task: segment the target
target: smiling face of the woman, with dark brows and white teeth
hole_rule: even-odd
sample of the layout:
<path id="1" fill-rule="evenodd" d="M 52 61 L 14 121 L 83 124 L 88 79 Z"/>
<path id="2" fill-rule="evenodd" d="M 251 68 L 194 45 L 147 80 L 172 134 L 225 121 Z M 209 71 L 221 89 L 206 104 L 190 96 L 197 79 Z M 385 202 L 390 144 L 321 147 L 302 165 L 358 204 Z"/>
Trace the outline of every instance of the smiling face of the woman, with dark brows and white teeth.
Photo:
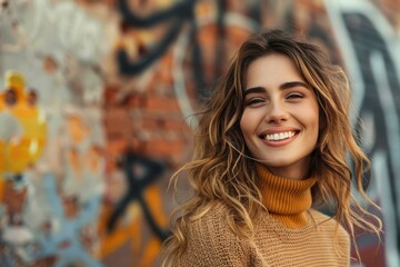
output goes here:
<path id="1" fill-rule="evenodd" d="M 283 55 L 252 61 L 246 75 L 240 129 L 251 157 L 290 179 L 309 175 L 319 131 L 314 92 Z"/>

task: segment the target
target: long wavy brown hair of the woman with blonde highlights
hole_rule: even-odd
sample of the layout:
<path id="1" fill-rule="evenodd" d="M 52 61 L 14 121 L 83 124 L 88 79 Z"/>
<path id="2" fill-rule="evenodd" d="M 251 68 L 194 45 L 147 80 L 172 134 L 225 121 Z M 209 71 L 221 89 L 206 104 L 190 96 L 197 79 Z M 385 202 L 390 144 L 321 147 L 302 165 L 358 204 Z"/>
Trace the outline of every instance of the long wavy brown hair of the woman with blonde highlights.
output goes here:
<path id="1" fill-rule="evenodd" d="M 380 220 L 366 211 L 351 195 L 351 184 L 356 180 L 360 194 L 370 201 L 363 189 L 363 175 L 370 162 L 352 131 L 351 90 L 344 72 L 331 65 L 317 46 L 297 40 L 280 30 L 263 31 L 251 36 L 241 46 L 227 75 L 199 113 L 201 118 L 194 158 L 172 179 L 177 185 L 178 177 L 183 174 L 188 176 L 194 196 L 174 211 L 179 217 L 173 235 L 164 244 L 166 265 L 173 264 L 184 251 L 188 224 L 201 218 L 216 201 L 228 207 L 232 216 L 227 219 L 238 235 L 253 234 L 252 219 L 263 207 L 257 186 L 254 159 L 250 157 L 239 123 L 244 109 L 248 68 L 256 59 L 271 53 L 287 56 L 313 89 L 318 100 L 321 127 L 312 152 L 312 172 L 318 178 L 312 188 L 313 201 L 333 204 L 333 218 L 344 224 L 352 237 L 353 226 L 379 234 Z M 378 227 L 363 219 L 360 212 L 372 216 Z"/>

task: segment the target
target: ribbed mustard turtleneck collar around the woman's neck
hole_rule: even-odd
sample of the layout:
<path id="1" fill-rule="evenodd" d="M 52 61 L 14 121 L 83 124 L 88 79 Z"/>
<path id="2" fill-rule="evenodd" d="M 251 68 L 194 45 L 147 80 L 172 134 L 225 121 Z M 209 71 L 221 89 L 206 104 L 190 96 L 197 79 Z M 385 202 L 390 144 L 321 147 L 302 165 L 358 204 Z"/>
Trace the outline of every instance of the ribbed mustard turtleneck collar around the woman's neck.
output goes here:
<path id="1" fill-rule="evenodd" d="M 307 225 L 307 210 L 311 208 L 311 187 L 317 178 L 292 180 L 272 175 L 266 166 L 257 164 L 260 178 L 262 204 L 276 220 L 288 228 L 300 228 Z"/>

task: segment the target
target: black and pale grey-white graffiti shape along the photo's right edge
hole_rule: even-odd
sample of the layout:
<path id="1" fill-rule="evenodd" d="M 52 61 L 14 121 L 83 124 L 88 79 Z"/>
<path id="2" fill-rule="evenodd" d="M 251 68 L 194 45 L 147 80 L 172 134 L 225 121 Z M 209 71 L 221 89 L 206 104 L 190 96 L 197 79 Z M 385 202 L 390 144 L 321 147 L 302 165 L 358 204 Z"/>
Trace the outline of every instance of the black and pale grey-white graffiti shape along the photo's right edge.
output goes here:
<path id="1" fill-rule="evenodd" d="M 371 131 L 364 145 L 384 217 L 386 260 L 399 266 L 400 62 L 393 48 L 400 43 L 393 43 L 391 26 L 371 3 L 326 3 L 354 85 L 358 115 Z"/>

